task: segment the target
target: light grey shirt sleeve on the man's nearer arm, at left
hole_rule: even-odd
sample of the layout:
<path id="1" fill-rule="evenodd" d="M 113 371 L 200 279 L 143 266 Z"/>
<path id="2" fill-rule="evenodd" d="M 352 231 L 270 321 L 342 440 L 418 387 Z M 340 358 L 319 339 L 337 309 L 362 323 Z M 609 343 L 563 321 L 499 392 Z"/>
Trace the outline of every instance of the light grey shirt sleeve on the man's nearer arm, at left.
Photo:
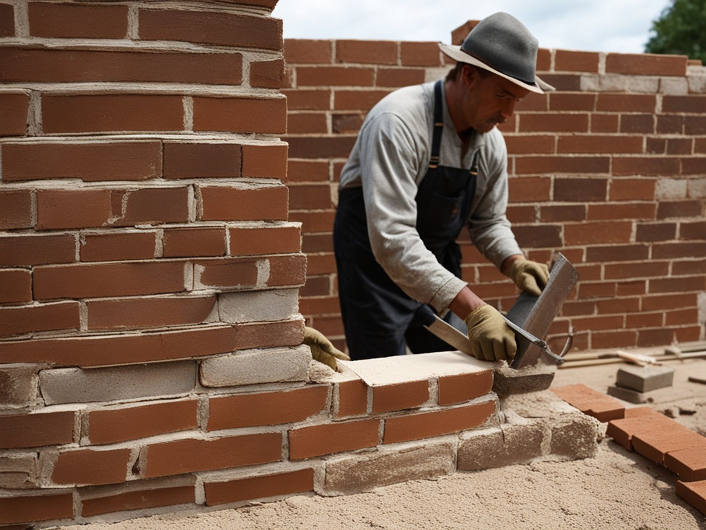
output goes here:
<path id="1" fill-rule="evenodd" d="M 428 165 L 424 140 L 388 112 L 366 123 L 359 147 L 376 260 L 409 297 L 444 312 L 466 283 L 439 264 L 417 232 L 417 183 Z"/>

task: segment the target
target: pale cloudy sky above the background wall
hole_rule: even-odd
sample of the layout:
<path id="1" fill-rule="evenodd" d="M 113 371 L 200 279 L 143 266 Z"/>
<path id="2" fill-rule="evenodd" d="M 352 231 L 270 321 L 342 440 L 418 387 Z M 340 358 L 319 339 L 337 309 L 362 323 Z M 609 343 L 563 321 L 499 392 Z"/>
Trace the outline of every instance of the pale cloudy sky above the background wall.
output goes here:
<path id="1" fill-rule="evenodd" d="M 642 53 L 671 0 L 280 0 L 285 39 L 450 42 L 467 20 L 505 11 L 542 48 Z"/>

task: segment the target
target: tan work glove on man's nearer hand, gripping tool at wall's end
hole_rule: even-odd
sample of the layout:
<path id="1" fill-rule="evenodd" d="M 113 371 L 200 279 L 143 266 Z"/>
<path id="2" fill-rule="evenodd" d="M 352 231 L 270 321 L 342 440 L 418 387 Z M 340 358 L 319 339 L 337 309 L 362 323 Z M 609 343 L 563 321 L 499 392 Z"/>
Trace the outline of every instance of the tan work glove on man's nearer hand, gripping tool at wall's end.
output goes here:
<path id="1" fill-rule="evenodd" d="M 492 305 L 481 305 L 466 317 L 473 356 L 479 360 L 512 360 L 517 353 L 515 333 Z"/>

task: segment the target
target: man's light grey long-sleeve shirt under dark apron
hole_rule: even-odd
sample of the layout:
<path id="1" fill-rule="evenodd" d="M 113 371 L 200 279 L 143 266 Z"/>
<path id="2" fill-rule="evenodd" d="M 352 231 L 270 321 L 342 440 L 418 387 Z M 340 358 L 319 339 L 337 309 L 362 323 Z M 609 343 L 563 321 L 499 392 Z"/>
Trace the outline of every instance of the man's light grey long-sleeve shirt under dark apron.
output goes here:
<path id="1" fill-rule="evenodd" d="M 445 269 L 417 232 L 417 187 L 431 158 L 433 83 L 409 86 L 373 107 L 341 172 L 340 187 L 363 187 L 368 232 L 376 260 L 414 300 L 438 312 L 467 285 Z M 498 268 L 521 254 L 505 216 L 507 150 L 497 129 L 463 143 L 443 98 L 440 164 L 469 168 L 479 151 L 478 177 L 468 228 L 479 251 Z"/>

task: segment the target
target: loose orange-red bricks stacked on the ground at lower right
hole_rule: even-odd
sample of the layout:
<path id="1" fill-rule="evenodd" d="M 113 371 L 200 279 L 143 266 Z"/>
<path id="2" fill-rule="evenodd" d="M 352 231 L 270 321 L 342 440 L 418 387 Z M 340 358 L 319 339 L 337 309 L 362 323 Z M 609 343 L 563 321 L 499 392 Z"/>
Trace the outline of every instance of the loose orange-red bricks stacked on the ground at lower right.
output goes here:
<path id="1" fill-rule="evenodd" d="M 606 435 L 616 443 L 678 476 L 676 494 L 706 515 L 706 437 L 650 407 L 625 408 L 585 384 L 552 391 L 583 413 L 608 422 Z"/>

